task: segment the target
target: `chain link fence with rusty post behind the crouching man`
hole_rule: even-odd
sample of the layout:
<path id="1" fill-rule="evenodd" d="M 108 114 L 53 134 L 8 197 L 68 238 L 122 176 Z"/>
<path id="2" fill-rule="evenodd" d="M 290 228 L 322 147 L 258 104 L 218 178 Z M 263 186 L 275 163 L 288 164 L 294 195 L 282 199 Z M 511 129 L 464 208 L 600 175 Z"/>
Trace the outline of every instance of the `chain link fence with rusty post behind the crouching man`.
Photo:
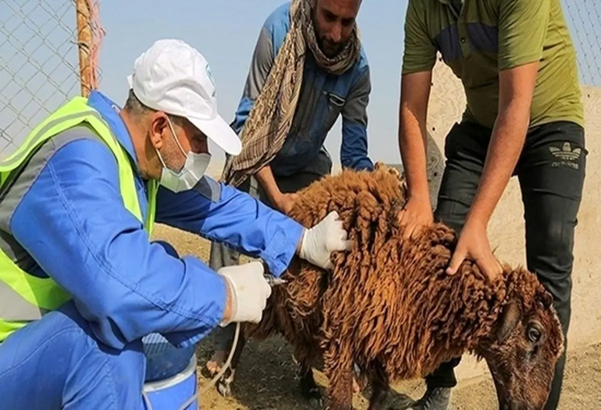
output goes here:
<path id="1" fill-rule="evenodd" d="M 46 115 L 95 88 L 103 31 L 91 0 L 0 1 L 0 158 Z"/>

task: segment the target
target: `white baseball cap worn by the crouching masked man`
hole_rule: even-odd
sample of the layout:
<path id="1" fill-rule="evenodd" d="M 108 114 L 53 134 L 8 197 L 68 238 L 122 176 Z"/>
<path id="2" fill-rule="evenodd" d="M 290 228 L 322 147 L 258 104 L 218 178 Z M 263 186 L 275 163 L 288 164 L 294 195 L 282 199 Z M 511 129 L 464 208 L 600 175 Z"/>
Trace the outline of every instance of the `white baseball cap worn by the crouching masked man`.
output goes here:
<path id="1" fill-rule="evenodd" d="M 127 82 L 144 105 L 188 118 L 230 155 L 242 150 L 240 138 L 217 112 L 209 63 L 184 41 L 155 41 L 136 58 Z"/>

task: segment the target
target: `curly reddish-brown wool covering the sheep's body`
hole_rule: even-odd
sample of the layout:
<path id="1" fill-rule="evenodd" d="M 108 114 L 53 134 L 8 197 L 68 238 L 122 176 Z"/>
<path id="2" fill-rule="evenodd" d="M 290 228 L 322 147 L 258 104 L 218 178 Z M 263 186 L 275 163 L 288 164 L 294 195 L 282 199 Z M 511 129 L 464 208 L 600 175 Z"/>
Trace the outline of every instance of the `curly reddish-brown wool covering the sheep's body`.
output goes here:
<path id="1" fill-rule="evenodd" d="M 519 299 L 523 311 L 551 304 L 523 268 L 504 266 L 490 283 L 466 260 L 447 275 L 456 234 L 437 223 L 403 240 L 398 213 L 405 201 L 404 182 L 383 166 L 343 171 L 299 192 L 290 216 L 311 227 L 336 210 L 352 250 L 333 255 L 331 272 L 294 259 L 261 322 L 245 325 L 247 337 L 282 334 L 297 360 L 323 358 L 330 378 L 356 363 L 363 375 L 393 381 L 423 377 L 474 352 L 510 300 Z"/>

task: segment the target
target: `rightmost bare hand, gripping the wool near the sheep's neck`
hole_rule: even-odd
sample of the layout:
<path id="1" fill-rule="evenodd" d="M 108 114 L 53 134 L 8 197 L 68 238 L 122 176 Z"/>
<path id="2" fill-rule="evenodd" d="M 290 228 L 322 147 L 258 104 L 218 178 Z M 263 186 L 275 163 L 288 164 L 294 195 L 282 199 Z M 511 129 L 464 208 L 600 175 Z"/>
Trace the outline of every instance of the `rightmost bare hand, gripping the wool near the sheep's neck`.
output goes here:
<path id="1" fill-rule="evenodd" d="M 477 221 L 468 221 L 463 226 L 447 268 L 447 274 L 456 274 L 457 269 L 466 258 L 473 259 L 490 281 L 495 281 L 503 272 L 501 264 L 490 249 L 486 225 Z"/>

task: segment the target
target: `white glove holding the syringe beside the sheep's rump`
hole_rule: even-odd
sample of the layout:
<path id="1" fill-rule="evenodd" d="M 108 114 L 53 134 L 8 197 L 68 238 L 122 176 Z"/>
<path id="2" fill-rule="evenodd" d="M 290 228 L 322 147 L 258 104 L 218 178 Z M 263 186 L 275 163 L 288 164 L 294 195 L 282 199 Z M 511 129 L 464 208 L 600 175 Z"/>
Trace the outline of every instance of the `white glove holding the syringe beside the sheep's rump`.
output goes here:
<path id="1" fill-rule="evenodd" d="M 224 266 L 217 273 L 225 278 L 231 291 L 231 318 L 221 326 L 231 322 L 260 322 L 271 295 L 271 286 L 263 277 L 263 263 Z"/>

